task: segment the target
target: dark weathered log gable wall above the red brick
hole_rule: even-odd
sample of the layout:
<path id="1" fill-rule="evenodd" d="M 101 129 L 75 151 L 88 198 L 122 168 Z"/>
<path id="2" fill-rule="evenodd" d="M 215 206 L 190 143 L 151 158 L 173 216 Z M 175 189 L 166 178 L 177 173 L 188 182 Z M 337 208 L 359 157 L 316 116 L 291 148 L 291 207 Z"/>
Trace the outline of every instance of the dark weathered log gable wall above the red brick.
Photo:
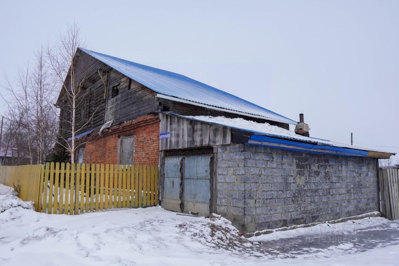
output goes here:
<path id="1" fill-rule="evenodd" d="M 98 70 L 107 84 L 106 99 L 104 99 L 105 86 Z M 111 69 L 85 52 L 77 51 L 74 71 L 75 82 L 82 81 L 84 87 L 77 99 L 76 128 L 81 128 L 90 120 L 77 134 L 90 129 L 97 131 L 106 121 L 114 120 L 113 125 L 118 125 L 158 109 L 154 91 Z M 67 79 L 66 84 L 70 88 L 70 80 Z M 112 87 L 115 85 L 118 86 L 119 93 L 111 97 Z M 62 93 L 58 104 L 61 109 L 61 119 L 71 121 L 71 109 Z M 63 129 L 61 133 L 65 138 L 71 136 L 70 123 L 61 122 L 60 128 Z"/>

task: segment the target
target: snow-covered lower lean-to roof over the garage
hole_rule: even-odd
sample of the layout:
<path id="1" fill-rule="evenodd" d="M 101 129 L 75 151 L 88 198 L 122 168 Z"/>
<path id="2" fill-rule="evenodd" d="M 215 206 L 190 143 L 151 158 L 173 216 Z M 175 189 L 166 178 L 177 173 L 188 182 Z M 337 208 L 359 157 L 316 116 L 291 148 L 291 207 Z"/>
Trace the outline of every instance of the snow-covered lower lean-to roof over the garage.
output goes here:
<path id="1" fill-rule="evenodd" d="M 176 115 L 176 114 L 174 114 Z M 217 125 L 223 125 L 227 127 L 232 127 L 235 129 L 241 129 L 243 131 L 249 131 L 252 133 L 256 134 L 261 134 L 261 135 L 267 135 L 271 137 L 280 137 L 284 139 L 291 139 L 291 140 L 296 140 L 296 141 L 304 141 L 304 142 L 310 142 L 310 143 L 315 143 L 315 144 L 322 144 L 322 145 L 329 145 L 329 146 L 334 146 L 334 147 L 343 147 L 343 148 L 349 148 L 349 149 L 358 149 L 358 150 L 363 150 L 363 151 L 376 151 L 376 152 L 381 152 L 381 153 L 392 153 L 389 151 L 381 151 L 378 149 L 373 149 L 369 147 L 361 147 L 361 146 L 355 146 L 355 145 L 347 145 L 344 143 L 338 143 L 334 141 L 329 141 L 325 139 L 318 139 L 318 138 L 313 138 L 313 137 L 304 137 L 301 135 L 297 135 L 295 132 L 283 129 L 281 127 L 275 126 L 275 125 L 270 125 L 269 123 L 257 123 L 254 121 L 248 121 L 242 118 L 227 118 L 224 116 L 218 116 L 218 117 L 213 117 L 213 116 L 182 116 L 178 115 L 181 117 L 186 117 L 188 119 L 194 119 L 198 121 L 203 121 L 207 123 L 212 123 L 212 124 L 217 124 Z"/>

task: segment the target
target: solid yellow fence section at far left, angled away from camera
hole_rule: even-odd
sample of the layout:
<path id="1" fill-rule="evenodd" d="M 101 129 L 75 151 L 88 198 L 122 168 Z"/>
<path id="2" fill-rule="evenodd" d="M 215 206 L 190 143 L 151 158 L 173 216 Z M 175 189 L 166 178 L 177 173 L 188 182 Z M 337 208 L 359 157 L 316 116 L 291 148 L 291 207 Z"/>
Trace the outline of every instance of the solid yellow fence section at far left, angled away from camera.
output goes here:
<path id="1" fill-rule="evenodd" d="M 35 209 L 40 212 L 43 173 L 44 165 L 0 165 L 0 183 L 8 187 L 19 187 L 18 196 L 24 201 L 35 202 Z"/>

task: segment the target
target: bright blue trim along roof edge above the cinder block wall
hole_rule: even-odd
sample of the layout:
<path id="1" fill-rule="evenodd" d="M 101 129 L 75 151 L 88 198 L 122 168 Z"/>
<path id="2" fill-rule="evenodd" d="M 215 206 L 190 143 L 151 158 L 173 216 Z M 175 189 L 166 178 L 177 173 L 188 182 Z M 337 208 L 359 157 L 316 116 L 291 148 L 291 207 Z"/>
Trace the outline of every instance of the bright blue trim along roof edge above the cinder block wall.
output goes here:
<path id="1" fill-rule="evenodd" d="M 367 156 L 368 152 L 367 151 L 361 151 L 361 150 L 356 150 L 356 149 L 349 149 L 349 148 L 342 148 L 342 147 L 334 147 L 330 145 L 313 145 L 309 143 L 303 143 L 303 142 L 297 142 L 297 141 L 289 141 L 285 139 L 276 139 L 273 137 L 267 137 L 263 135 L 252 135 L 249 138 L 249 141 L 259 141 L 259 142 L 267 142 L 267 143 L 275 143 L 275 144 L 281 144 L 281 145 L 289 145 L 292 146 L 292 149 L 295 149 L 295 147 L 302 148 L 298 149 L 297 151 L 304 151 L 303 149 L 306 149 L 306 152 L 312 151 L 313 153 L 320 153 L 320 154 L 332 154 L 332 153 L 323 153 L 320 151 L 314 151 L 314 150 L 325 150 L 325 151 L 333 151 L 336 153 L 339 153 L 338 155 L 347 155 L 347 156 L 361 156 L 365 157 Z M 253 144 L 253 143 L 249 143 Z M 262 144 L 260 144 L 262 145 Z M 267 147 L 273 147 L 273 145 L 262 145 L 262 146 L 267 146 Z M 274 146 L 278 147 L 279 149 L 284 149 L 284 147 L 280 146 Z"/>

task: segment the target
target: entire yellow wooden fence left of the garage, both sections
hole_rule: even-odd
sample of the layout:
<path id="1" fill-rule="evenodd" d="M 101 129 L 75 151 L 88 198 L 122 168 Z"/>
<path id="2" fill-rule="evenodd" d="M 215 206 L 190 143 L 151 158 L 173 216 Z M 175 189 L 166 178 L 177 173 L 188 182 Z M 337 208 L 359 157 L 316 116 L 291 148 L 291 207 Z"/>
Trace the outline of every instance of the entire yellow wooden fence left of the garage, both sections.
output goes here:
<path id="1" fill-rule="evenodd" d="M 24 193 L 31 195 L 22 199 L 33 200 L 36 211 L 81 214 L 158 205 L 158 166 L 155 165 L 46 163 L 45 166 L 10 167 L 14 170 L 3 167 L 0 166 L 0 183 L 12 186 L 12 181 L 19 177 Z M 40 172 L 29 171 L 36 169 L 34 167 Z M 2 182 L 3 172 L 8 183 Z"/>

